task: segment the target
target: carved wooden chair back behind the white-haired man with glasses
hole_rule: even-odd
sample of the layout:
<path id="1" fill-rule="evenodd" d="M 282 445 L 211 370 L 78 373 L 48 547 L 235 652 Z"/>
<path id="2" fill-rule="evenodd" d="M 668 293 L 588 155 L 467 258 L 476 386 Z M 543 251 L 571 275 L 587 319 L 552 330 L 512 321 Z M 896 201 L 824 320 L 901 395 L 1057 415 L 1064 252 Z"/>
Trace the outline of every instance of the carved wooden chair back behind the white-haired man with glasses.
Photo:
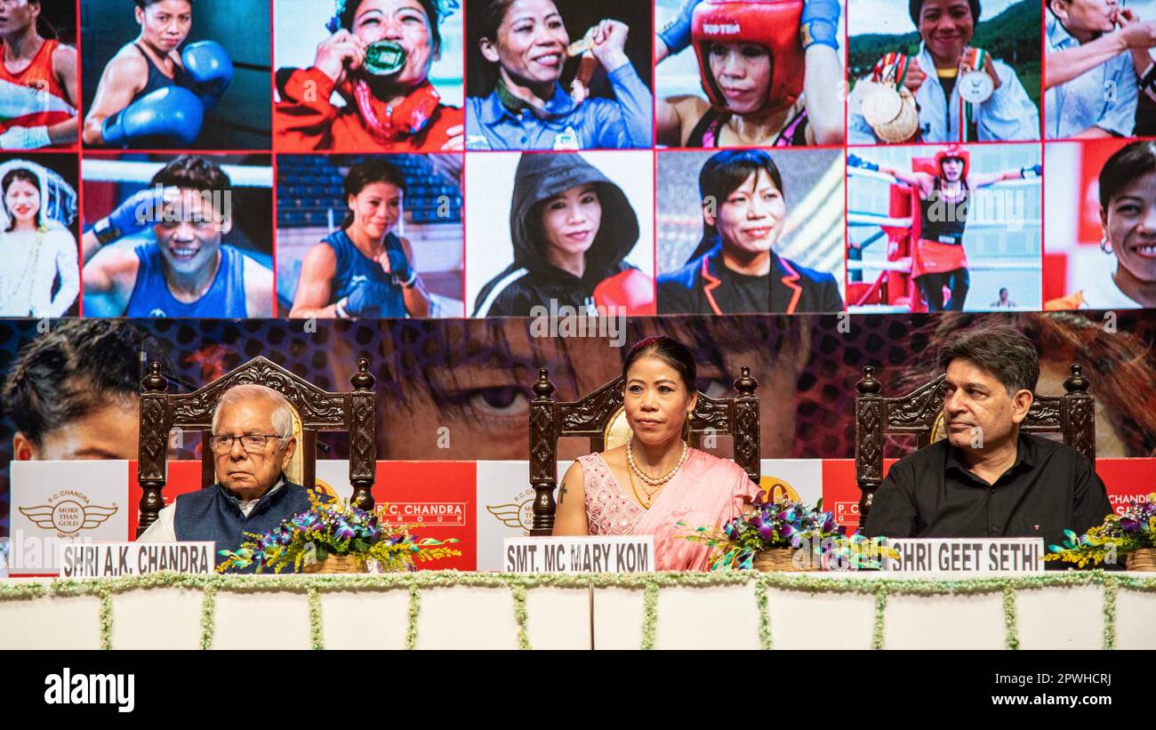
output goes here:
<path id="1" fill-rule="evenodd" d="M 161 373 L 161 364 L 154 362 L 141 381 L 140 463 L 136 481 L 143 494 L 138 536 L 156 521 L 157 513 L 164 506 L 162 491 L 165 484 L 169 432 L 172 429 L 201 431 L 201 486 L 214 484 L 217 479 L 213 453 L 208 448 L 213 414 L 225 390 L 246 383 L 279 390 L 296 411 L 294 434 L 298 439 L 299 457 L 295 455 L 294 462 L 286 470 L 288 478 L 312 486 L 317 477 L 317 433 L 348 431 L 353 501 L 362 508 L 373 506 L 371 490 L 377 467 L 377 396 L 373 393 L 373 375 L 369 372 L 369 360 L 365 358 L 357 360 L 357 372 L 350 378 L 354 389 L 346 393 L 323 390 L 276 363 L 255 357 L 193 393 L 170 394 L 169 381 Z"/>

